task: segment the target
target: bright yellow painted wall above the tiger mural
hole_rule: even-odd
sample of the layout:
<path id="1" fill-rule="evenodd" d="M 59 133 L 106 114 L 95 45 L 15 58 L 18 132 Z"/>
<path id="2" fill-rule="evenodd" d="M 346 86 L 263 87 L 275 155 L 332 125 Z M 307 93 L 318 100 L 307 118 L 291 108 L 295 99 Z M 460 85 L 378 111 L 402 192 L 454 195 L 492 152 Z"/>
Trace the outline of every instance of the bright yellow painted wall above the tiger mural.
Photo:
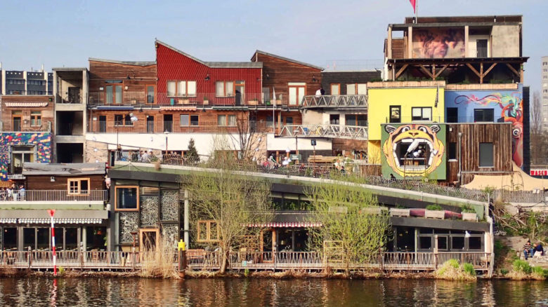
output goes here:
<path id="1" fill-rule="evenodd" d="M 367 110 L 368 134 L 370 140 L 381 139 L 381 123 L 389 123 L 390 106 L 401 106 L 401 122 L 411 123 L 412 107 L 432 107 L 432 121 L 445 122 L 444 89 L 439 88 L 438 107 L 436 88 L 369 88 Z"/>

